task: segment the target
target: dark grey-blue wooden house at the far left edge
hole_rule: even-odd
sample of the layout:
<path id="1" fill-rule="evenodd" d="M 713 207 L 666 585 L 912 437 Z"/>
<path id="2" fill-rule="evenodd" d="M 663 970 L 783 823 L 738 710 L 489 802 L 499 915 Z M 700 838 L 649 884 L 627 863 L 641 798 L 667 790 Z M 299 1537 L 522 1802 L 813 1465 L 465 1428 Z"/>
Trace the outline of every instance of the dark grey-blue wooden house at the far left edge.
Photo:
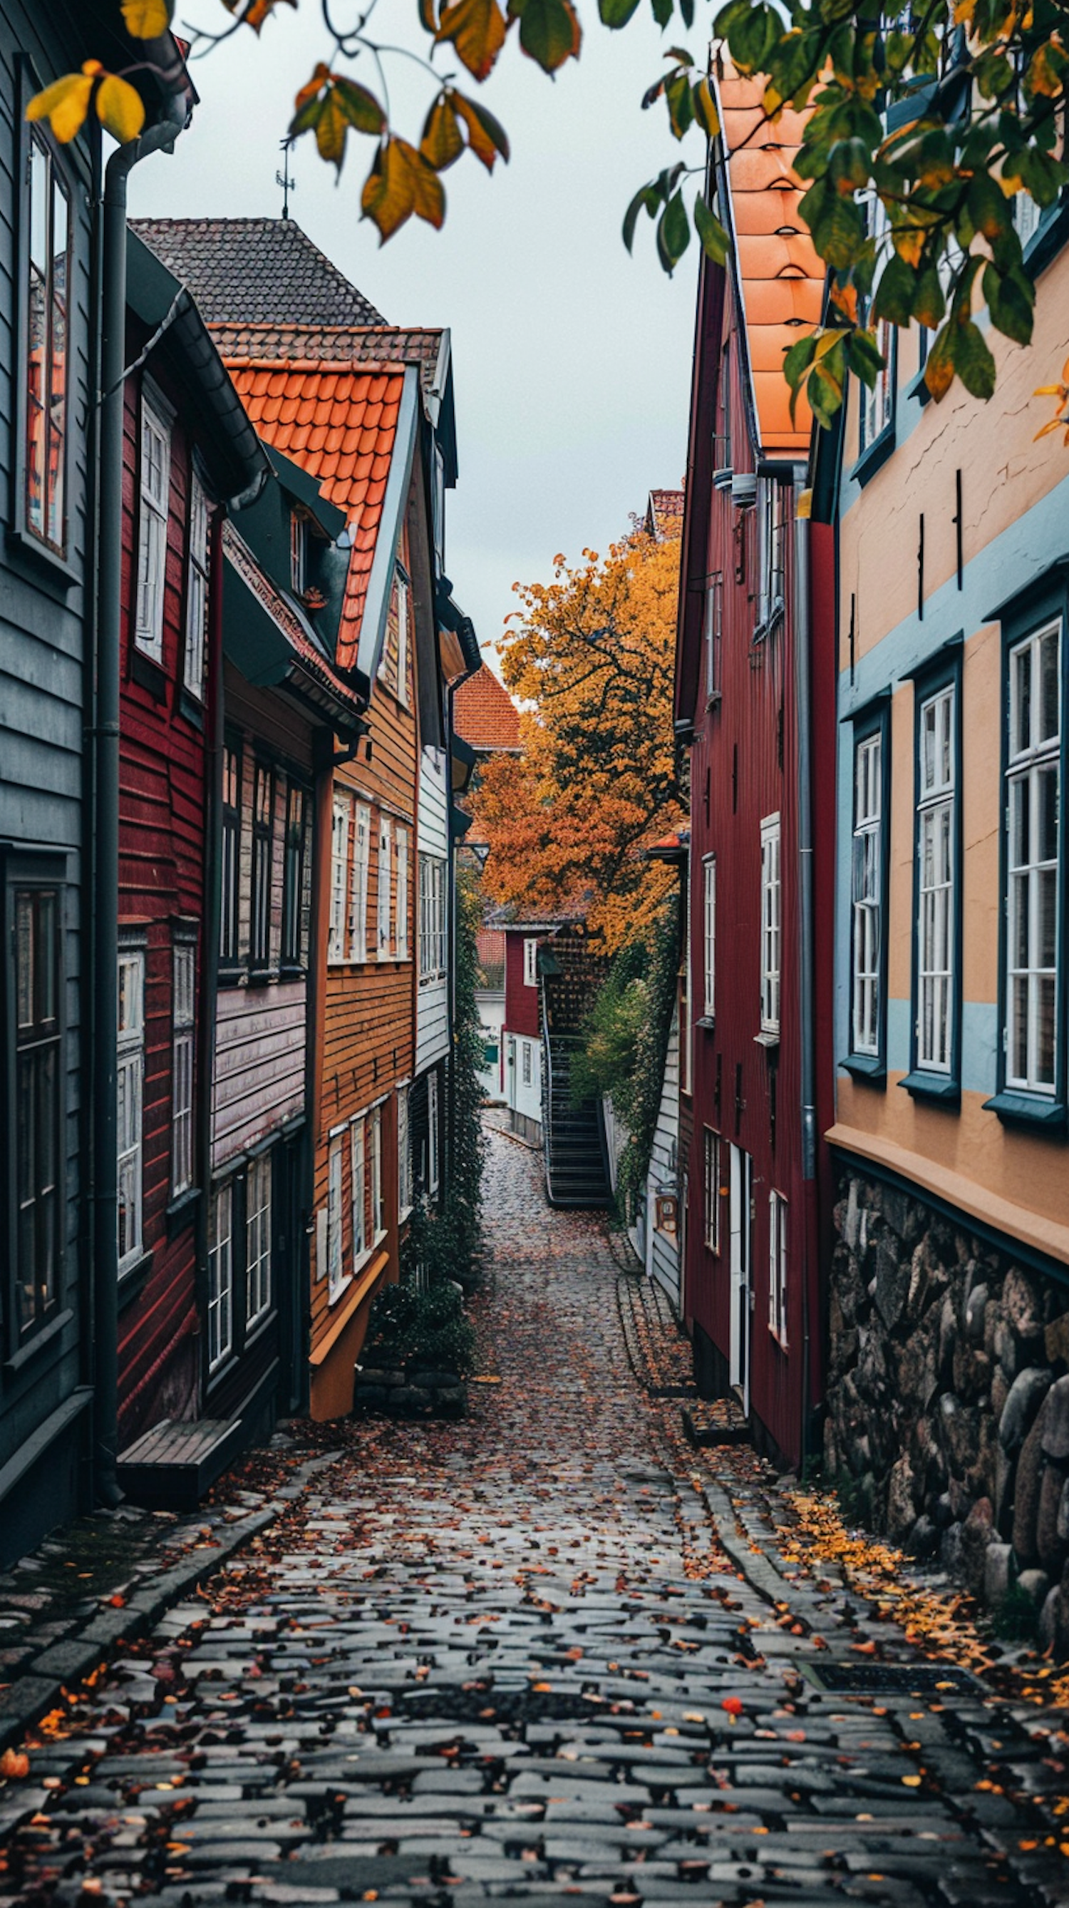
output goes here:
<path id="1" fill-rule="evenodd" d="M 141 151 L 156 143 L 162 116 L 173 139 L 192 92 L 170 34 L 135 46 L 105 0 L 59 11 L 2 0 L 0 1559 L 29 1549 L 95 1488 L 114 1502 L 107 1305 L 105 1330 L 90 1334 L 91 1219 L 101 1238 L 114 1229 L 114 1168 L 99 1152 L 95 1116 L 111 1105 L 114 1118 L 97 1013 L 112 1000 L 114 962 L 93 965 L 95 925 L 114 933 L 114 862 L 105 853 L 114 847 L 114 729 L 101 736 L 95 700 L 105 595 L 95 548 L 105 458 L 95 259 L 107 252 L 120 271 L 122 259 L 103 235 L 99 126 L 59 145 L 48 122 L 25 118 L 42 86 L 91 55 L 112 69 L 139 61 Z M 107 456 L 114 496 L 120 456 Z M 114 1254 L 97 1297 L 112 1299 L 112 1267 Z"/>

